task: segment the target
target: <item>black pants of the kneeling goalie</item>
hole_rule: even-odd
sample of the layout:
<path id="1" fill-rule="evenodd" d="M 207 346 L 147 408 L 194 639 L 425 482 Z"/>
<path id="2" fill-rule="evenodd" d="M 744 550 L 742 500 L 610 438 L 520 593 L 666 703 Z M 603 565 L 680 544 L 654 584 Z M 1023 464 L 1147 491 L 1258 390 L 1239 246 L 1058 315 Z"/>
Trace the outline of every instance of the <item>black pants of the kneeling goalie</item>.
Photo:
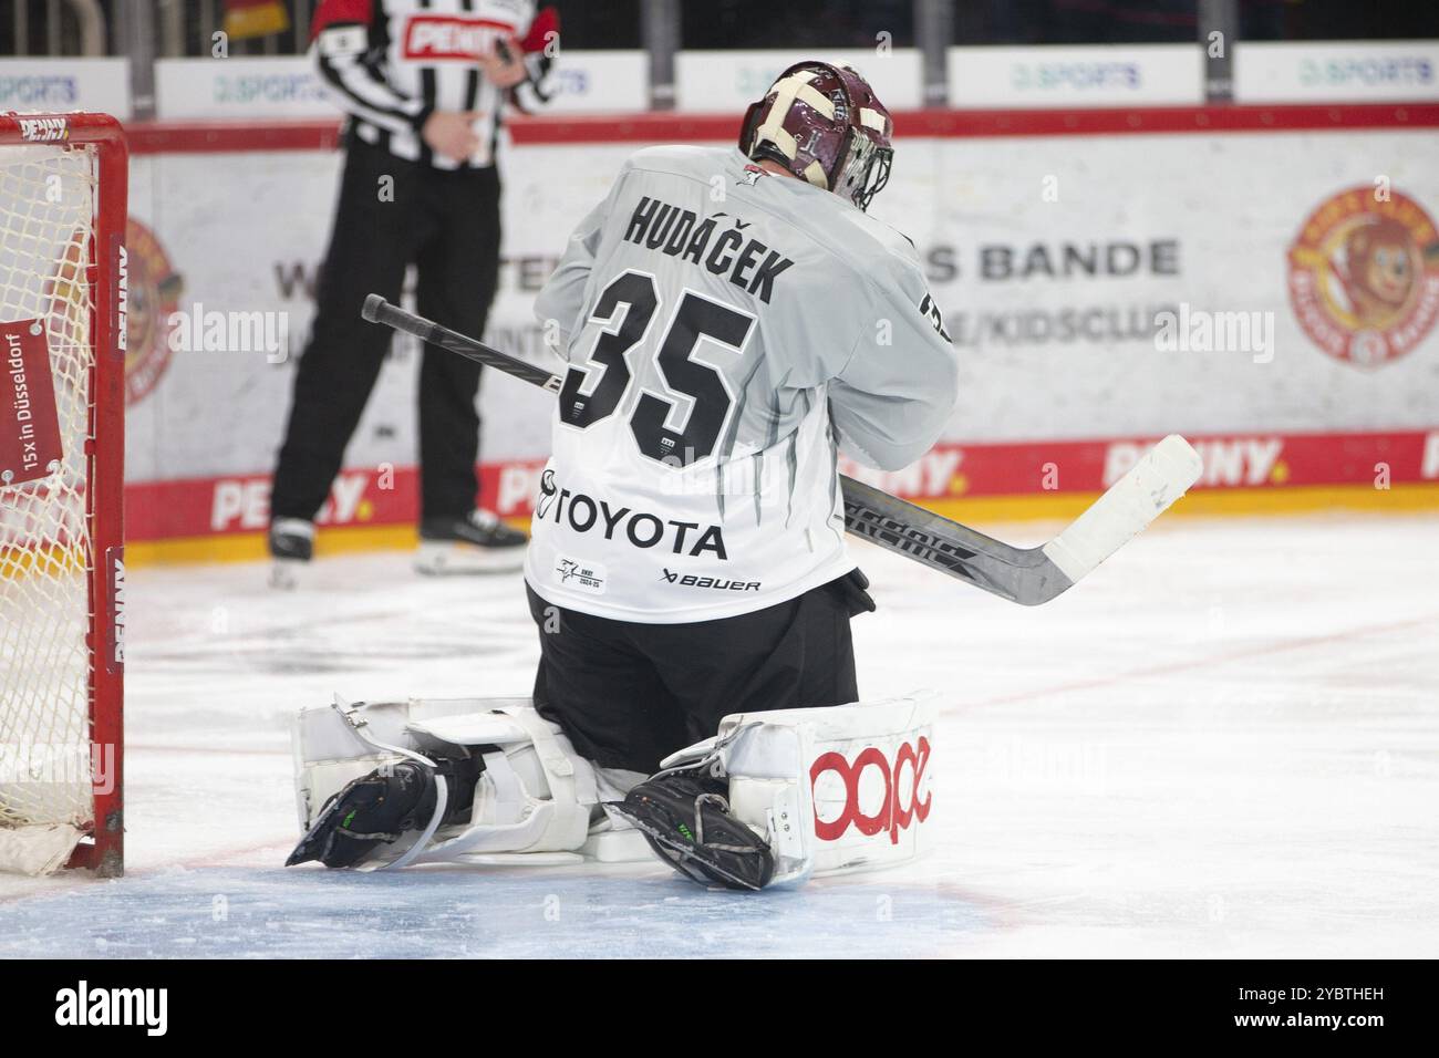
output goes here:
<path id="1" fill-rule="evenodd" d="M 652 774 L 731 713 L 856 701 L 850 616 L 875 607 L 853 573 L 754 613 L 684 625 L 612 620 L 530 594 L 534 702 L 603 767 Z"/>

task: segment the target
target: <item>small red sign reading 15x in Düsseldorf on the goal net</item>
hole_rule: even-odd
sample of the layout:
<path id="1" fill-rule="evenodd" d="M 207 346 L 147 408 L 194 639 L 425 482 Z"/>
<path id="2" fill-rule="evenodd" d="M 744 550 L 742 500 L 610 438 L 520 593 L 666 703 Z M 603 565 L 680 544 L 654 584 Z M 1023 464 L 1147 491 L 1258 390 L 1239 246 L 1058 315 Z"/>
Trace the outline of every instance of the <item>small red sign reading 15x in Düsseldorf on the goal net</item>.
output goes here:
<path id="1" fill-rule="evenodd" d="M 45 324 L 0 322 L 0 488 L 6 488 L 49 476 L 65 455 Z"/>

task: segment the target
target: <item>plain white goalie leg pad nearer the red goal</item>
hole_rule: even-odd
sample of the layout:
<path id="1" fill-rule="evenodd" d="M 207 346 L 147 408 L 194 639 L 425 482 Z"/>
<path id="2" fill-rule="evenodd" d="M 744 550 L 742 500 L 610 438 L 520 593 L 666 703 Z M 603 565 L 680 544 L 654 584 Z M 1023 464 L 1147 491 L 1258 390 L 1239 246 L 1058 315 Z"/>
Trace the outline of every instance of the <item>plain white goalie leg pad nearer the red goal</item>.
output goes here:
<path id="1" fill-rule="evenodd" d="M 468 822 L 407 833 L 370 867 L 509 856 L 540 862 L 541 854 L 548 854 L 544 862 L 574 862 L 600 799 L 594 767 L 528 698 L 337 700 L 299 714 L 294 744 L 302 829 L 348 782 L 409 754 L 466 750 L 484 759 Z"/>

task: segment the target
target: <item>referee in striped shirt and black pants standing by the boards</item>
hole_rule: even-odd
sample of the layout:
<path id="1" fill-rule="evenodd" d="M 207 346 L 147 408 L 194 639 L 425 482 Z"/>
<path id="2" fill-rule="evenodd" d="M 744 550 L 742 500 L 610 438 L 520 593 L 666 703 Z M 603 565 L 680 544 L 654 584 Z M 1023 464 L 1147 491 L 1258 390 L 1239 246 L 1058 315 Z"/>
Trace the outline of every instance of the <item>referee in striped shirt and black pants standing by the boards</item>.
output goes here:
<path id="1" fill-rule="evenodd" d="M 340 472 L 390 344 L 360 318 L 419 275 L 420 315 L 481 335 L 499 271 L 495 150 L 507 102 L 548 99 L 558 17 L 534 0 L 321 0 L 309 53 L 344 108 L 345 166 L 295 373 L 271 494 L 273 583 L 314 554 L 315 514 Z M 426 348 L 420 366 L 420 559 L 426 573 L 515 570 L 525 537 L 479 504 L 479 366 Z"/>

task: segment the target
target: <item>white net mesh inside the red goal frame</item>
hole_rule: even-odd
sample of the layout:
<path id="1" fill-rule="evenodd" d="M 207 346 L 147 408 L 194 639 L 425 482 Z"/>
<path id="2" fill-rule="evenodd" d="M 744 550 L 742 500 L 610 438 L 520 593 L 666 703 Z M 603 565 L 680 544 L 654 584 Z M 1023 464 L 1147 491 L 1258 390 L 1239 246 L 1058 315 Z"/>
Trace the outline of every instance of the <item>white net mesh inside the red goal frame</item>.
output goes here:
<path id="1" fill-rule="evenodd" d="M 0 321 L 45 322 L 63 464 L 0 481 L 0 828 L 82 826 L 89 782 L 86 439 L 92 148 L 0 144 Z"/>

